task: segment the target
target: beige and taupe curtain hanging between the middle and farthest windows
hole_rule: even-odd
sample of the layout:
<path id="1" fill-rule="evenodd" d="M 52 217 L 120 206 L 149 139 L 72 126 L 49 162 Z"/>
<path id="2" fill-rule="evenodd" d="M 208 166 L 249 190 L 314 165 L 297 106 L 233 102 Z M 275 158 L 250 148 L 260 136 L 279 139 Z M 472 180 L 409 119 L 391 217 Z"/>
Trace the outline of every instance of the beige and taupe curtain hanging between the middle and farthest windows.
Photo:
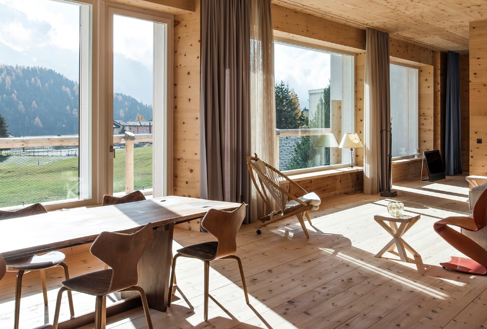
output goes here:
<path id="1" fill-rule="evenodd" d="M 368 28 L 365 52 L 363 192 L 377 194 L 390 189 L 389 33 Z"/>

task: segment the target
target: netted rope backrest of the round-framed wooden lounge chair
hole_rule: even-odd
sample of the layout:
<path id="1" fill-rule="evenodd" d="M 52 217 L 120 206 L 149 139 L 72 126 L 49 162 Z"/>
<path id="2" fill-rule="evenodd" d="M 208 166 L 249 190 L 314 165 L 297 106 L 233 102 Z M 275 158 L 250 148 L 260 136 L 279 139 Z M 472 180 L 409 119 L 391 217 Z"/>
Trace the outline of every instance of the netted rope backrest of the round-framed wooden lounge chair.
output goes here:
<path id="1" fill-rule="evenodd" d="M 295 200 L 295 197 L 291 194 L 291 188 L 299 191 L 301 196 L 308 193 L 284 173 L 260 160 L 257 157 L 257 154 L 255 157 L 247 157 L 247 166 L 249 168 L 252 182 L 257 189 L 257 193 L 264 200 L 269 209 L 274 209 L 274 207 L 272 206 L 270 198 L 267 196 L 267 192 L 274 199 L 283 213 L 286 208 L 286 203 L 291 199 Z M 304 205 L 304 202 L 302 204 Z"/>

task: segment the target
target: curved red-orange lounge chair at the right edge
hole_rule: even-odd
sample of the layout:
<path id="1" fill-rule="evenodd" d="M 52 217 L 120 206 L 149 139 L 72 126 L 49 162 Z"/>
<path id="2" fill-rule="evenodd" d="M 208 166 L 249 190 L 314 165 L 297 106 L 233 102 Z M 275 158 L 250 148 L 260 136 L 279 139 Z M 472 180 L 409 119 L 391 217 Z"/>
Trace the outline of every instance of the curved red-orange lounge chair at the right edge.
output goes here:
<path id="1" fill-rule="evenodd" d="M 487 190 L 481 194 L 475 203 L 472 216 L 447 217 L 433 225 L 434 230 L 440 234 L 445 241 L 451 244 L 463 255 L 470 257 L 470 259 L 467 259 L 452 256 L 450 262 L 440 263 L 443 268 L 449 268 L 469 274 L 486 275 L 487 250 L 468 236 L 450 226 L 456 226 L 462 230 L 474 232 L 487 227 Z"/>

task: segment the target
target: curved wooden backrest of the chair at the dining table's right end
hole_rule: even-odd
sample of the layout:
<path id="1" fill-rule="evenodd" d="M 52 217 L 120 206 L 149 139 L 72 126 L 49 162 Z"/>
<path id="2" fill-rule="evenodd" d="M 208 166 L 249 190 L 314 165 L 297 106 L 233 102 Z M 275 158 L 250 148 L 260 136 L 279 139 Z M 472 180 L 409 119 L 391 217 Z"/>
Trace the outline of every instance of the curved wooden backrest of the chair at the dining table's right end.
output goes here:
<path id="1" fill-rule="evenodd" d="M 233 255 L 237 251 L 237 232 L 245 219 L 245 212 L 244 202 L 233 211 L 210 209 L 201 220 L 201 226 L 218 239 L 215 259 Z"/>

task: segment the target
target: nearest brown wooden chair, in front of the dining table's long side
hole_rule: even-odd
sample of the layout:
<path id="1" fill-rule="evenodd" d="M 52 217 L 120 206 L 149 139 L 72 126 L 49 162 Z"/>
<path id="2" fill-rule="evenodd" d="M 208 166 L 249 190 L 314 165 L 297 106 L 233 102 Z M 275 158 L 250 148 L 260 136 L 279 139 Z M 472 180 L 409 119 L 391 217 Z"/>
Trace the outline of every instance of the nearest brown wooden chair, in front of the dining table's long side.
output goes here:
<path id="1" fill-rule="evenodd" d="M 96 296 L 95 328 L 97 329 L 104 329 L 106 325 L 106 295 L 120 291 L 136 291 L 142 299 L 147 326 L 152 329 L 145 292 L 141 287 L 136 286 L 137 263 L 151 243 L 152 236 L 152 223 L 131 234 L 100 233 L 93 242 L 90 252 L 111 268 L 80 275 L 63 282 L 64 287 L 58 292 L 52 328 L 58 328 L 61 297 L 67 290 Z"/>

